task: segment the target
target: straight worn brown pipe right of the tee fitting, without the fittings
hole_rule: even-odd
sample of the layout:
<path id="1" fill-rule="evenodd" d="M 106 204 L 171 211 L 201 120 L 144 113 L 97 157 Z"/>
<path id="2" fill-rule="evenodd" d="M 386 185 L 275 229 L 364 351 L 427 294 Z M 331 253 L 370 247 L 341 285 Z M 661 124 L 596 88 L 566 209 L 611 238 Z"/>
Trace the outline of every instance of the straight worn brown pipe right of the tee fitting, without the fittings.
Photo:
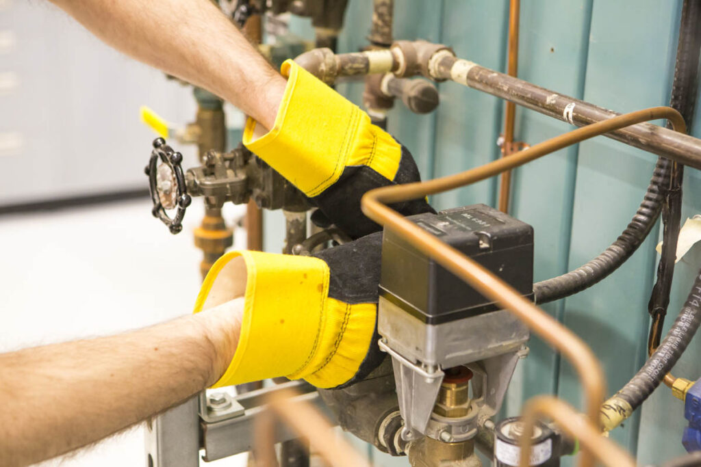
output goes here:
<path id="1" fill-rule="evenodd" d="M 594 104 L 560 95 L 527 81 L 461 60 L 449 53 L 435 54 L 429 65 L 434 79 L 451 79 L 456 83 L 501 97 L 528 109 L 544 113 L 582 127 L 607 120 L 620 113 Z M 609 138 L 636 148 L 701 169 L 701 140 L 683 132 L 668 130 L 651 123 L 641 123 L 606 134 Z"/>

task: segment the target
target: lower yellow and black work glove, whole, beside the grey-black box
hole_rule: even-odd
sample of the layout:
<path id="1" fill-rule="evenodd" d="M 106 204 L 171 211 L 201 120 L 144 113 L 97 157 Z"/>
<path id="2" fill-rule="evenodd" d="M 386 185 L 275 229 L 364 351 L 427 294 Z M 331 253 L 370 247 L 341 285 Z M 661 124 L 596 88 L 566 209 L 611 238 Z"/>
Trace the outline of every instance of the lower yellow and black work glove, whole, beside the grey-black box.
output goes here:
<path id="1" fill-rule="evenodd" d="M 245 260 L 236 354 L 214 387 L 271 377 L 321 388 L 352 384 L 382 361 L 376 332 L 382 233 L 313 256 L 226 253 L 212 266 L 195 312 L 226 300 Z M 232 297 L 233 298 L 233 297 Z"/>

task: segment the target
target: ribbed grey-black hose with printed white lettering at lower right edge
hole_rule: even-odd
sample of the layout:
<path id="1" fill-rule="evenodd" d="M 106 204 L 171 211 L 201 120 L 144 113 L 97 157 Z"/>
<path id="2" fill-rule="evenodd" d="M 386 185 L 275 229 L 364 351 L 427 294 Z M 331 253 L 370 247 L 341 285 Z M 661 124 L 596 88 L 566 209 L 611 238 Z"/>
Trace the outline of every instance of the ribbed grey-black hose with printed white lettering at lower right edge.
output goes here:
<path id="1" fill-rule="evenodd" d="M 645 362 L 643 368 L 613 396 L 625 400 L 632 410 L 660 385 L 665 375 L 679 360 L 701 324 L 701 271 L 696 276 L 684 307 L 676 317 L 660 347 Z"/>

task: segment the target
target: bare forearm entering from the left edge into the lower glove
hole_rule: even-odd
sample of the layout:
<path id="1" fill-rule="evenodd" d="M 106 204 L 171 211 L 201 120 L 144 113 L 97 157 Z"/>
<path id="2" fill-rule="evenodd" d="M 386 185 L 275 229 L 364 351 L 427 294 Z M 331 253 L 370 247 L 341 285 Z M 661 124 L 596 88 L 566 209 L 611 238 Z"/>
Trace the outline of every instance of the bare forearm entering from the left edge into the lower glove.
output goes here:
<path id="1" fill-rule="evenodd" d="M 142 421 L 217 381 L 243 299 L 150 328 L 0 354 L 0 459 L 26 465 Z"/>

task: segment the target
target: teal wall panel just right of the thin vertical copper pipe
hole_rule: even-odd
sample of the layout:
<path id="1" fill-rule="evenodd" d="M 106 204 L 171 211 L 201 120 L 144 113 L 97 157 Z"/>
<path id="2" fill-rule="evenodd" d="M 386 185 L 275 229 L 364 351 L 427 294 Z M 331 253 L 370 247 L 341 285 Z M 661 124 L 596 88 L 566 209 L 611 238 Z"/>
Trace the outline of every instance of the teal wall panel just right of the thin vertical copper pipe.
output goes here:
<path id="1" fill-rule="evenodd" d="M 564 95 L 583 97 L 591 5 L 590 0 L 522 5 L 519 78 Z M 515 139 L 519 141 L 536 144 L 569 128 L 536 111 L 517 109 Z M 536 281 L 566 272 L 576 167 L 577 146 L 571 146 L 514 172 L 511 214 L 535 230 Z M 562 303 L 543 308 L 559 316 Z M 524 399 L 555 389 L 556 354 L 537 336 L 531 337 L 529 347 L 529 357 L 519 365 L 508 393 L 504 412 L 510 416 L 519 414 Z"/>

